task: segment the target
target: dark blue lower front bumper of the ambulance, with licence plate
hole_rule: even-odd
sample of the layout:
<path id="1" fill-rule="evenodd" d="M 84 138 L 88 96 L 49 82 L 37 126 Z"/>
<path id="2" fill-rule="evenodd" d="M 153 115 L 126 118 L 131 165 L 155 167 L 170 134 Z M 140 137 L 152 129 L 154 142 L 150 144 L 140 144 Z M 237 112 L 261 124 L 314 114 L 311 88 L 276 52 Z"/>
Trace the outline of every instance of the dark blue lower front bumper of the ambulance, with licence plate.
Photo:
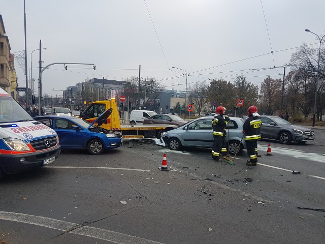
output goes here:
<path id="1" fill-rule="evenodd" d="M 58 145 L 52 150 L 32 154 L 0 155 L 0 166 L 7 174 L 14 174 L 32 168 L 43 166 L 43 160 L 55 157 L 58 158 L 61 146 Z"/>

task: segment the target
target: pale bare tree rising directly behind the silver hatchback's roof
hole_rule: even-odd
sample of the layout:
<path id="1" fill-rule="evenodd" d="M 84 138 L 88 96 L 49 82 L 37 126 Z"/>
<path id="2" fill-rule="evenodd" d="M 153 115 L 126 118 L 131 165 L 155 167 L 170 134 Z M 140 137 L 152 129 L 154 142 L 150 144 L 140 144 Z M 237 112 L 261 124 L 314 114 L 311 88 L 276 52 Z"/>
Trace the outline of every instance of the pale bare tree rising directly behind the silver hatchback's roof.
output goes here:
<path id="1" fill-rule="evenodd" d="M 188 88 L 188 100 L 193 104 L 194 109 L 199 115 L 201 115 L 205 106 L 209 104 L 207 100 L 208 89 L 209 86 L 206 82 L 196 82 Z"/>

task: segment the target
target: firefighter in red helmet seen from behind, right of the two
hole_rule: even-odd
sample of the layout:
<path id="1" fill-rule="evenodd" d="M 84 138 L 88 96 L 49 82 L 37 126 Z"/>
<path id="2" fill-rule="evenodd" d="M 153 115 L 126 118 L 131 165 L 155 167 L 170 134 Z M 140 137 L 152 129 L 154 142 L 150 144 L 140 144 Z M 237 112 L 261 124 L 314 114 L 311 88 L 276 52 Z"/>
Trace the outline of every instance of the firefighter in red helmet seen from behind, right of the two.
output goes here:
<path id="1" fill-rule="evenodd" d="M 246 165 L 254 166 L 257 163 L 257 140 L 261 139 L 262 120 L 258 117 L 256 106 L 250 106 L 247 110 L 247 116 L 243 130 L 245 131 L 245 141 L 249 160 Z"/>

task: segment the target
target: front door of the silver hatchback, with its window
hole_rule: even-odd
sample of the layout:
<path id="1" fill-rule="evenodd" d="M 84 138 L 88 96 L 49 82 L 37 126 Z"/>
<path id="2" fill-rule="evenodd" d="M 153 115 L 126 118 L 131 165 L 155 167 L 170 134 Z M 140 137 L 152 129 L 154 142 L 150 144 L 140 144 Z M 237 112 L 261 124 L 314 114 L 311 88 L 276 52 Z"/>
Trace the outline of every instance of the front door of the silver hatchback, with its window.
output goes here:
<path id="1" fill-rule="evenodd" d="M 194 120 L 187 130 L 182 130 L 181 137 L 184 146 L 212 148 L 212 118 Z"/>

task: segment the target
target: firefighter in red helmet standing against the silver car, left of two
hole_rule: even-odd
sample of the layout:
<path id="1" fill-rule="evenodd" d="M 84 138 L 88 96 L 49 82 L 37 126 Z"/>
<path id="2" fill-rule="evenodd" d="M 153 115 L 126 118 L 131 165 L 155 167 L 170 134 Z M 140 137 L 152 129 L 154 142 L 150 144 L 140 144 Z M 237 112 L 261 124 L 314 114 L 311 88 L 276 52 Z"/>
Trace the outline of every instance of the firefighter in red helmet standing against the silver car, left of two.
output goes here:
<path id="1" fill-rule="evenodd" d="M 224 141 L 224 132 L 226 128 L 226 123 L 223 119 L 225 107 L 219 106 L 215 110 L 215 116 L 212 120 L 213 128 L 213 148 L 212 148 L 212 159 L 221 162 L 221 147 L 222 141 Z M 224 143 L 225 144 L 225 143 Z M 225 150 L 226 151 L 226 150 Z"/>

